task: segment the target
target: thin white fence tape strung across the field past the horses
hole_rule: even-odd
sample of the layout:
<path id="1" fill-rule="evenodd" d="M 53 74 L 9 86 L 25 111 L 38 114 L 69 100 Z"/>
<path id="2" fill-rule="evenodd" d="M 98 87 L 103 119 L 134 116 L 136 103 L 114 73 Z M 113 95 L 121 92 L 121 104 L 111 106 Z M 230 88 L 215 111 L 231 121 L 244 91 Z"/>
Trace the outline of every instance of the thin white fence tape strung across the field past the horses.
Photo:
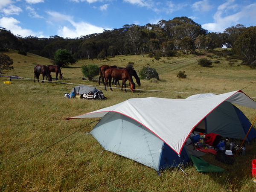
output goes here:
<path id="1" fill-rule="evenodd" d="M 16 77 L 16 76 L 0 76 L 0 77 Z M 29 80 L 34 80 L 34 79 L 30 79 L 30 78 L 25 78 L 25 77 L 19 77 L 19 79 L 29 79 Z M 40 80 L 39 81 L 43 81 L 43 80 Z M 102 88 L 105 88 L 103 86 L 93 86 L 93 85 L 87 85 L 87 84 L 76 84 L 76 83 L 64 83 L 64 82 L 58 82 L 58 81 L 51 81 L 52 83 L 60 83 L 60 84 L 74 84 L 74 85 L 85 85 L 85 86 L 89 86 L 89 87 L 102 87 Z M 254 82 L 256 83 L 256 82 Z M 254 84 L 252 83 L 252 84 Z M 249 87 L 250 85 L 252 84 L 249 84 L 248 86 L 244 87 L 244 88 L 247 88 Z M 107 88 L 110 88 L 110 87 L 107 87 Z M 111 88 L 115 88 L 115 89 L 121 89 L 120 87 L 111 87 Z M 244 88 L 240 89 L 240 90 L 243 90 Z M 126 88 L 128 90 L 131 90 L 130 88 Z M 166 93 L 191 93 L 191 94 L 200 94 L 200 93 L 193 93 L 193 92 L 183 92 L 183 91 L 164 91 L 164 90 L 147 90 L 147 89 L 136 89 L 136 90 L 143 90 L 143 91 L 155 91 L 155 92 L 166 92 Z M 221 93 L 214 93 L 215 95 L 220 95 Z M 250 98 L 253 98 L 253 99 L 256 99 L 256 97 L 250 97 Z"/>

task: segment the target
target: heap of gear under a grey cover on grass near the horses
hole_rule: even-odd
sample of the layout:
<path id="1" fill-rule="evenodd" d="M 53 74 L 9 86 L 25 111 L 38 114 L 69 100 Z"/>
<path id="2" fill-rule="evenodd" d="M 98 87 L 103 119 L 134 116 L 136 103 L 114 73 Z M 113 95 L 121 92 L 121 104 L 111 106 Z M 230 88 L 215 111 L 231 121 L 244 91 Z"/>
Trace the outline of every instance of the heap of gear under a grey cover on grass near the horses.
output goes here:
<path id="1" fill-rule="evenodd" d="M 101 90 L 85 85 L 74 87 L 70 93 L 65 93 L 64 97 L 71 99 L 106 99 Z"/>

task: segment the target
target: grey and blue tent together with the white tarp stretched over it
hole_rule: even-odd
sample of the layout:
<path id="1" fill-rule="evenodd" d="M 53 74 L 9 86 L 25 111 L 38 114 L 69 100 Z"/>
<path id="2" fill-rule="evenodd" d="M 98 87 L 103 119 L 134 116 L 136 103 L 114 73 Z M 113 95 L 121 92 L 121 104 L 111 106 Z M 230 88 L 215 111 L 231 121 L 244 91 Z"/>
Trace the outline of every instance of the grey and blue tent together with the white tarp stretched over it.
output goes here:
<path id="1" fill-rule="evenodd" d="M 195 129 L 205 135 L 254 139 L 255 129 L 231 103 L 256 109 L 256 102 L 238 90 L 187 99 L 133 98 L 68 119 L 102 118 L 90 133 L 105 150 L 161 170 L 190 162 L 189 152 L 195 150 L 185 143 Z"/>

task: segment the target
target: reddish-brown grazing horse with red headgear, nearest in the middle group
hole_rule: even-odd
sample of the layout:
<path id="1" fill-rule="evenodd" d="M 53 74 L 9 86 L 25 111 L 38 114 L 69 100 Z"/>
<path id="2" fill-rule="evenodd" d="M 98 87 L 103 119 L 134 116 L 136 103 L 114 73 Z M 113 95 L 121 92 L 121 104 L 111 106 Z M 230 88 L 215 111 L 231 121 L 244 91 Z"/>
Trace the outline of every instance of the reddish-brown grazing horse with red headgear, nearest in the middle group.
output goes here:
<path id="1" fill-rule="evenodd" d="M 134 93 L 135 92 L 135 83 L 133 82 L 131 76 L 129 75 L 128 71 L 125 69 L 107 69 L 105 70 L 105 90 L 107 90 L 106 85 L 109 84 L 110 90 L 111 88 L 111 80 L 116 79 L 116 80 L 122 80 L 122 88 L 125 86 L 125 92 L 126 92 L 126 84 L 125 82 L 128 80 L 130 83 L 131 91 Z M 121 90 L 122 90 L 121 88 Z M 112 90 L 113 91 L 113 90 Z"/>

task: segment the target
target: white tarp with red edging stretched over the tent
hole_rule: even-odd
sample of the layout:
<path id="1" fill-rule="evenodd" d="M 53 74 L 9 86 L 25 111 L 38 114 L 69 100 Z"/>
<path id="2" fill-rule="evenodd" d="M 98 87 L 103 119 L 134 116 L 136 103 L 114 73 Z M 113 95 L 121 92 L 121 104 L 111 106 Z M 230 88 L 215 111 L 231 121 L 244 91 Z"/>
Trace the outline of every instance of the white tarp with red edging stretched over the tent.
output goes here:
<path id="1" fill-rule="evenodd" d="M 134 98 L 84 115 L 96 118 L 109 112 L 121 113 L 148 128 L 180 154 L 193 128 L 224 101 L 256 109 L 256 102 L 241 90 L 202 99 Z"/>

